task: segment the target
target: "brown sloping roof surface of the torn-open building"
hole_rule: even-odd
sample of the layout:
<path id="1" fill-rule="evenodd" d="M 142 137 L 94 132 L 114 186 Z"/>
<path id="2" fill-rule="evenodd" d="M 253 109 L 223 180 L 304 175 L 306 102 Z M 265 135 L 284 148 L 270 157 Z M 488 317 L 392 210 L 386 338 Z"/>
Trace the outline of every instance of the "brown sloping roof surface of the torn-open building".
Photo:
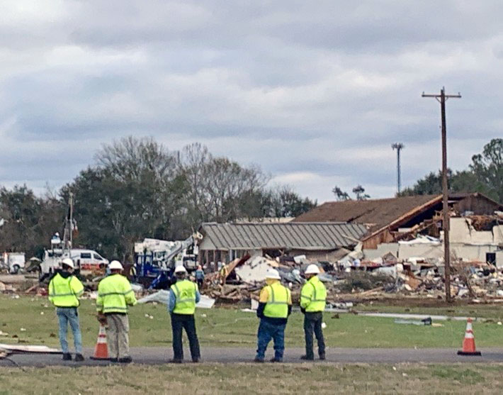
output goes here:
<path id="1" fill-rule="evenodd" d="M 364 223 L 377 230 L 405 216 L 410 211 L 441 201 L 441 195 L 403 196 L 391 199 L 328 201 L 312 208 L 293 222 Z"/>

